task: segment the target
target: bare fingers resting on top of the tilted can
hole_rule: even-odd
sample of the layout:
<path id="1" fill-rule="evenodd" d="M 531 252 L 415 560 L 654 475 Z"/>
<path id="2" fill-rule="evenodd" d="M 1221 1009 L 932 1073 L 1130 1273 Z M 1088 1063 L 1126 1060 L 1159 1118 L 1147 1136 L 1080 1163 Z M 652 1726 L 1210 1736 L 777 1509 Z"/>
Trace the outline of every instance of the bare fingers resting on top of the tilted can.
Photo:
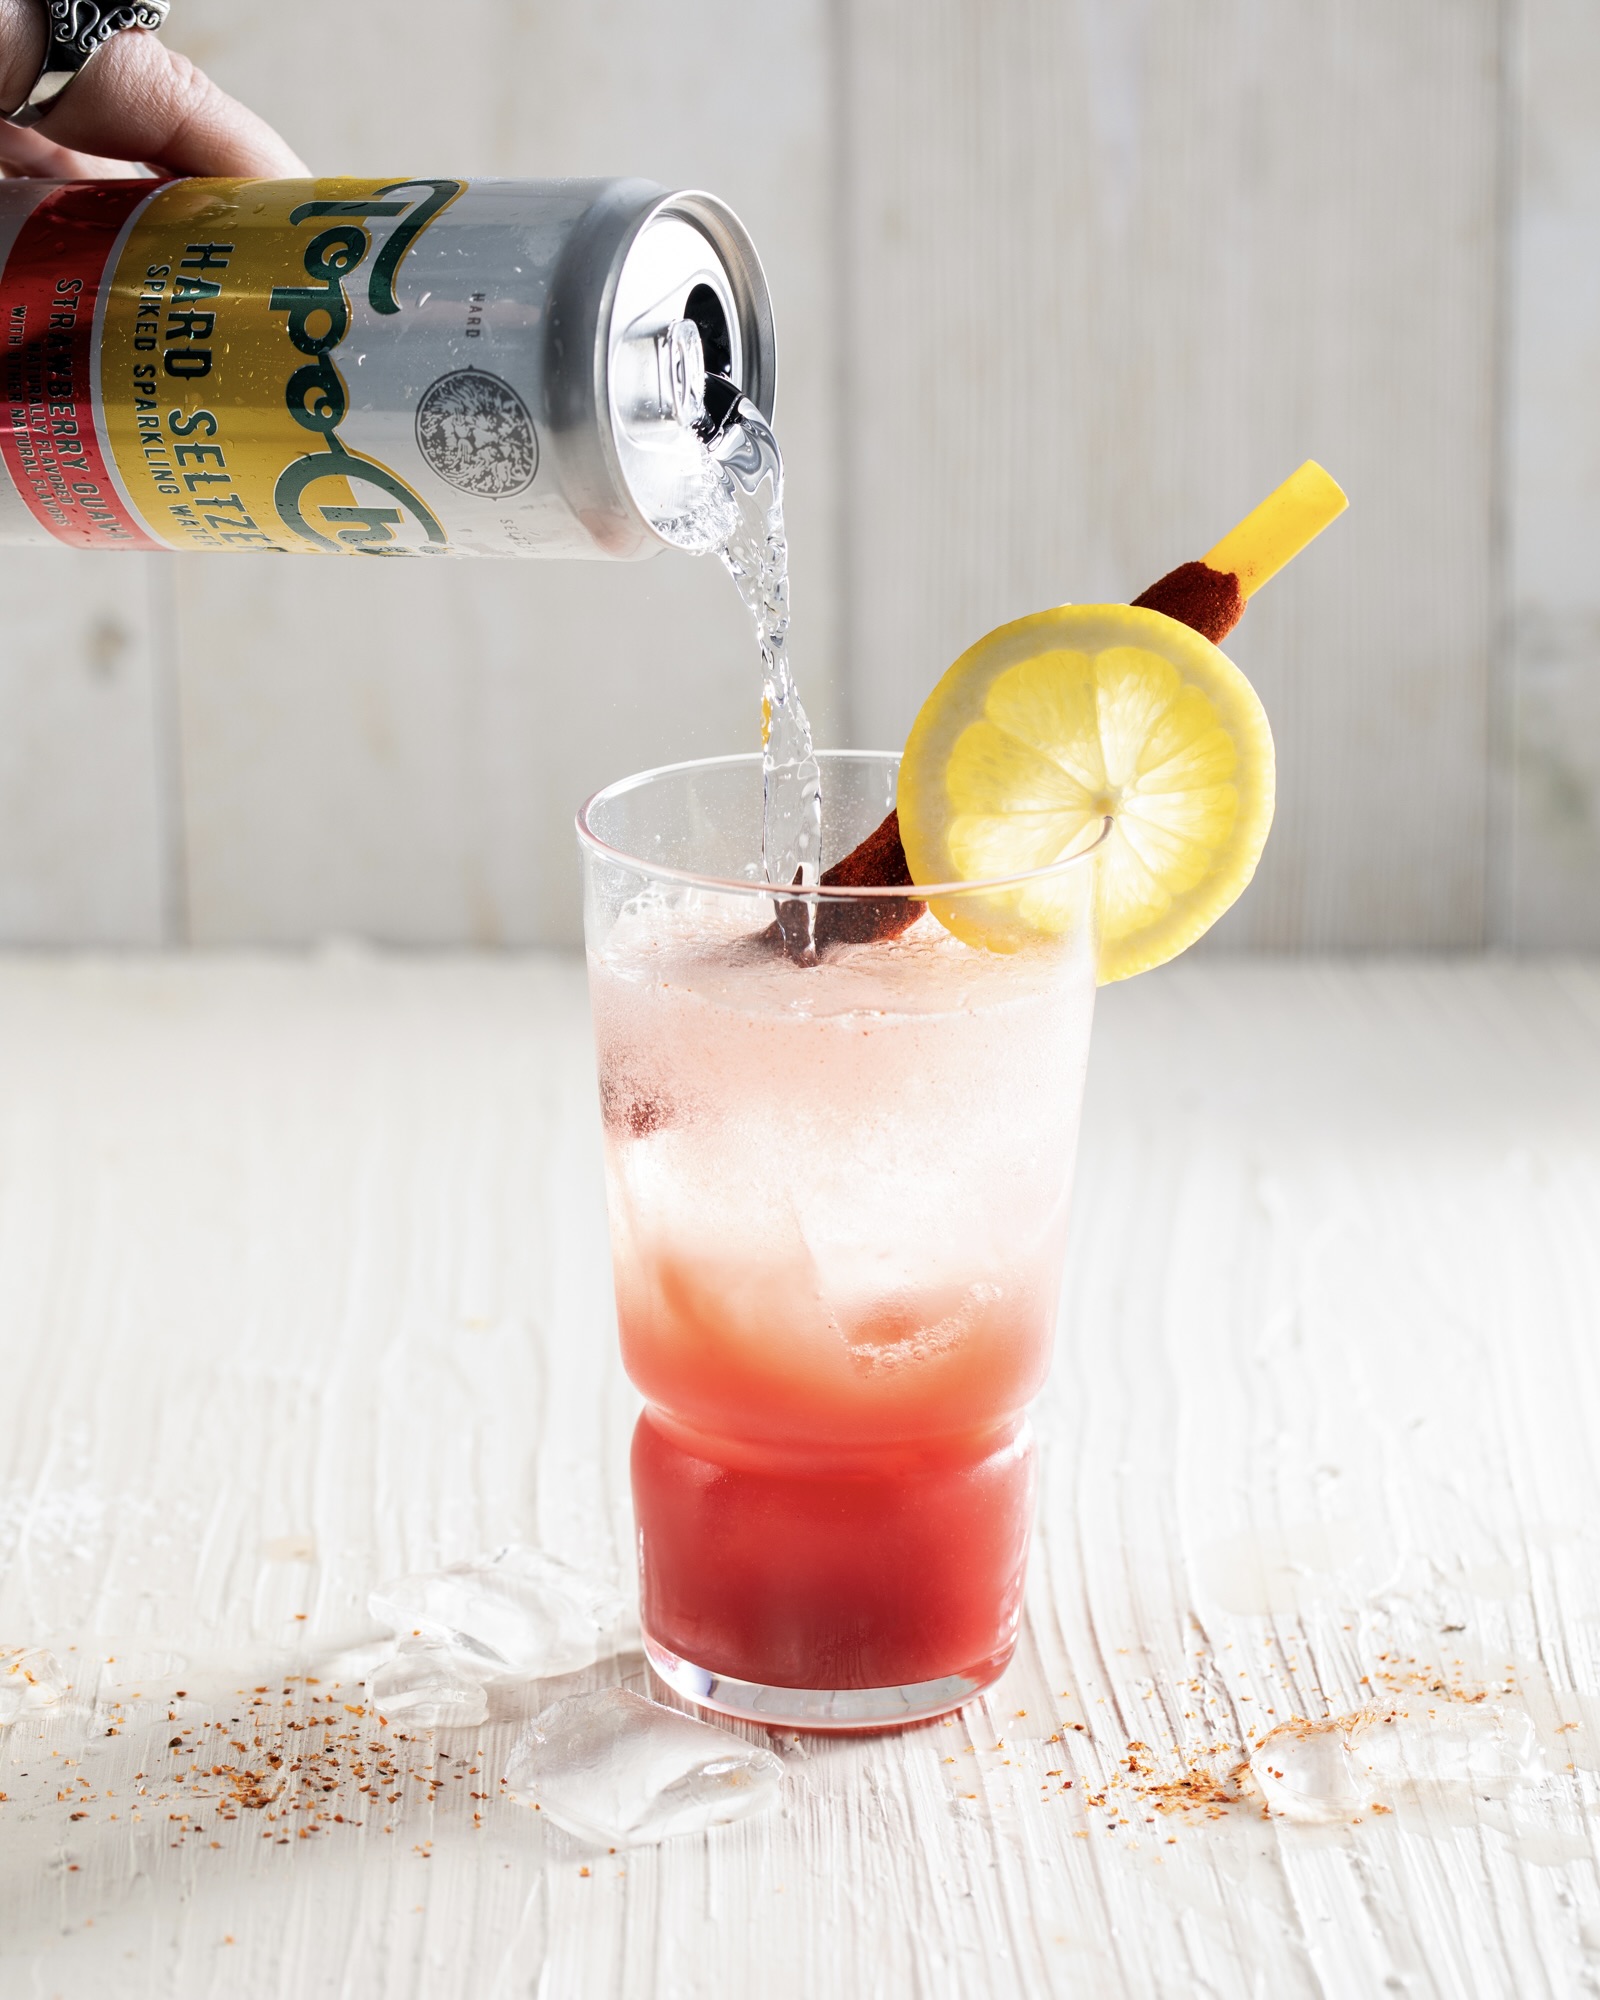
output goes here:
<path id="1" fill-rule="evenodd" d="M 8 30 L 22 44 L 40 12 L 38 0 L 26 8 L 20 0 L 0 0 L 0 80 L 12 84 L 0 102 L 14 104 L 38 68 L 36 34 L 34 68 L 18 78 L 26 62 L 18 64 Z M 68 152 L 148 160 L 168 174 L 306 172 L 272 126 L 142 28 L 114 34 L 34 130 Z"/>

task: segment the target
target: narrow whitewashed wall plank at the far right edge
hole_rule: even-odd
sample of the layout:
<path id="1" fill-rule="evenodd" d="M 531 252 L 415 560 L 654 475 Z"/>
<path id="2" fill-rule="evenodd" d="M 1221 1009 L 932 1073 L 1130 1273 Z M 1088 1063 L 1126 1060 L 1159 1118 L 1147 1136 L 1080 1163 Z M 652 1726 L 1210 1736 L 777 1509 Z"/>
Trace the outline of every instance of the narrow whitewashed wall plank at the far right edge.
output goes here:
<path id="1" fill-rule="evenodd" d="M 1496 934 L 1600 944 L 1600 14 L 1516 8 L 1510 646 Z"/>

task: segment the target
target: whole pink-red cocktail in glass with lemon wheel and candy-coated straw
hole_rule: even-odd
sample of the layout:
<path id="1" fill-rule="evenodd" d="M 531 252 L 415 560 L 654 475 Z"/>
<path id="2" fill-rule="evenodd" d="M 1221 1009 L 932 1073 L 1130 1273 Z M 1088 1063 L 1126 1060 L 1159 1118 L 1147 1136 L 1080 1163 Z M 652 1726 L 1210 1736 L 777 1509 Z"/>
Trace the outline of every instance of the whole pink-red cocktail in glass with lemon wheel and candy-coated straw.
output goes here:
<path id="1" fill-rule="evenodd" d="M 806 740 L 820 878 L 772 878 L 760 756 L 580 812 L 644 1644 L 694 1702 L 882 1728 L 1010 1660 L 1096 982 L 1250 880 L 1272 738 L 1210 628 L 1342 504 L 1302 468 L 1138 606 L 1002 626 L 904 758 Z"/>

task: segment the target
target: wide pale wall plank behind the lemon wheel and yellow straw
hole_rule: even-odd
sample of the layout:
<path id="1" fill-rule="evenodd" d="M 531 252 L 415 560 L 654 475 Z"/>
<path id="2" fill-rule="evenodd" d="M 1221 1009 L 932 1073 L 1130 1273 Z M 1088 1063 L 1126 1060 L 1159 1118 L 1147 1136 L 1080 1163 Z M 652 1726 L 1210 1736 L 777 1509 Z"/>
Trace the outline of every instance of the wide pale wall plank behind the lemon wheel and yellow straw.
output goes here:
<path id="1" fill-rule="evenodd" d="M 1218 938 L 1480 942 L 1498 0 L 844 20 L 856 736 L 1316 456 L 1352 510 L 1230 642 L 1280 808 Z"/>

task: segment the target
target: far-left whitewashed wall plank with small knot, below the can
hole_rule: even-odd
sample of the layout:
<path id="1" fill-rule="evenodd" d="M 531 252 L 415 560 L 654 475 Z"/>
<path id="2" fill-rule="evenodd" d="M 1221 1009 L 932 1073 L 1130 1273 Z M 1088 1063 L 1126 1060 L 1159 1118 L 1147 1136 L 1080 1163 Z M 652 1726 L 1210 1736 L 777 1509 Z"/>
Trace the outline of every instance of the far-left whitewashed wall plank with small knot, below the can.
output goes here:
<path id="1" fill-rule="evenodd" d="M 172 942 L 170 564 L 0 548 L 0 938 Z"/>

